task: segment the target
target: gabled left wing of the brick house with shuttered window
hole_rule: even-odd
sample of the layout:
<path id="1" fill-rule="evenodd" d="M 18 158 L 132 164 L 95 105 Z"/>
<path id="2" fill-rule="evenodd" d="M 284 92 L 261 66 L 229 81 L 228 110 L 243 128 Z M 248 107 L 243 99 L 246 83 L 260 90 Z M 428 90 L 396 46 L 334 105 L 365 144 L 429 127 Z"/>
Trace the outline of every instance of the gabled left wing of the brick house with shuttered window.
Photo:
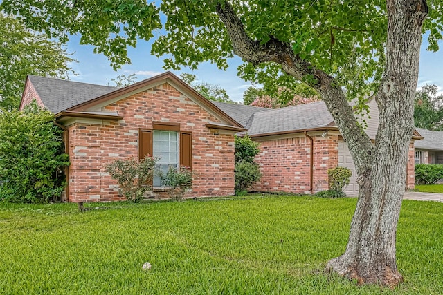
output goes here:
<path id="1" fill-rule="evenodd" d="M 30 75 L 20 108 L 33 99 L 65 130 L 70 202 L 121 200 L 105 165 L 145 155 L 190 167 L 192 196 L 234 193 L 233 134 L 246 129 L 170 72 L 125 88 Z"/>

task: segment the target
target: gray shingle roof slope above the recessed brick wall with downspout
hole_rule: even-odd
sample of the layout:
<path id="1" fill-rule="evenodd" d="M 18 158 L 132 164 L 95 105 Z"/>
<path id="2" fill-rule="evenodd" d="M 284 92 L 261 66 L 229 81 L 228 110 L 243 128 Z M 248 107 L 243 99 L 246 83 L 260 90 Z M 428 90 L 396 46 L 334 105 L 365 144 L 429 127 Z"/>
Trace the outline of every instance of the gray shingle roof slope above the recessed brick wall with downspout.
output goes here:
<path id="1" fill-rule="evenodd" d="M 254 113 L 248 134 L 300 131 L 330 126 L 332 122 L 334 119 L 327 111 L 325 102 L 313 102 Z"/>

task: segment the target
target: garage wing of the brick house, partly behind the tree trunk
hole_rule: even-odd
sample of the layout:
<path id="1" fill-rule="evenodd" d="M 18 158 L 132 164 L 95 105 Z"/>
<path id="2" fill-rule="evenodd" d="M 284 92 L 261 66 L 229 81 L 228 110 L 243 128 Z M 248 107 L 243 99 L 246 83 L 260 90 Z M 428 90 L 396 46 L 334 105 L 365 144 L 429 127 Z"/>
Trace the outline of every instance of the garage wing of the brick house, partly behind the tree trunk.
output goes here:
<path id="1" fill-rule="evenodd" d="M 260 164 L 262 179 L 253 191 L 316 193 L 329 188 L 327 170 L 343 166 L 352 170 L 348 196 L 356 196 L 354 162 L 338 127 L 324 102 L 314 102 L 269 110 L 253 106 L 235 106 L 215 102 L 225 113 L 241 122 L 248 135 L 260 143 L 255 160 Z M 375 99 L 368 102 L 370 117 L 365 118 L 365 132 L 374 141 L 379 113 Z M 360 115 L 361 124 L 363 119 Z M 414 131 L 410 142 L 406 189 L 414 188 Z"/>

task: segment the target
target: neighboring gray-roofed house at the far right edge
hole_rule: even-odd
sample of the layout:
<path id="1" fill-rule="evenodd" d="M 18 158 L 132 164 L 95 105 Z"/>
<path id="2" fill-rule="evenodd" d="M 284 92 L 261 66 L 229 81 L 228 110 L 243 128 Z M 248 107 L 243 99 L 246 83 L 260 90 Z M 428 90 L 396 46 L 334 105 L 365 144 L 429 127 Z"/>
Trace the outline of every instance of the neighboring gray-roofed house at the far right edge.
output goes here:
<path id="1" fill-rule="evenodd" d="M 443 131 L 416 129 L 424 138 L 415 142 L 415 164 L 443 164 Z"/>

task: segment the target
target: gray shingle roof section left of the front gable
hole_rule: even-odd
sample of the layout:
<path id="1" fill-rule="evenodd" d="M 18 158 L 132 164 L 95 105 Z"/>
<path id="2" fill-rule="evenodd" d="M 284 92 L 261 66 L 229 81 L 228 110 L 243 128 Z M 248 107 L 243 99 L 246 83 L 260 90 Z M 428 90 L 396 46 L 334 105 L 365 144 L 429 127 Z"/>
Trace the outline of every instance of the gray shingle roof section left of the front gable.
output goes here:
<path id="1" fill-rule="evenodd" d="M 53 113 L 65 111 L 71 106 L 76 106 L 96 97 L 100 97 L 117 87 L 73 82 L 69 80 L 39 77 L 28 75 L 40 99 L 46 108 Z"/>

